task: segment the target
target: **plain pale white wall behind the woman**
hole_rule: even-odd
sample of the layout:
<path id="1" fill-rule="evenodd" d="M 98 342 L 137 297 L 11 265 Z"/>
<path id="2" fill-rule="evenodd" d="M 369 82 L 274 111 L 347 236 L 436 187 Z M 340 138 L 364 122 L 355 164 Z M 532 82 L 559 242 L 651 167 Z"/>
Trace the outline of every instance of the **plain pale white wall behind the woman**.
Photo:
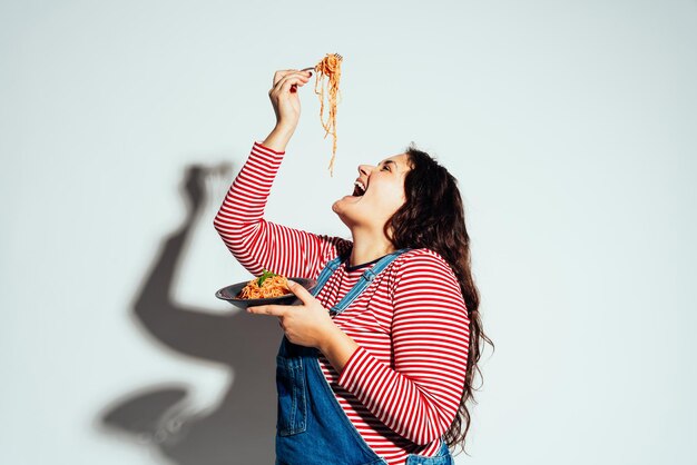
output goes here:
<path id="1" fill-rule="evenodd" d="M 277 327 L 214 297 L 248 275 L 212 220 L 273 72 L 334 51 L 336 172 L 304 88 L 268 217 L 345 236 L 355 166 L 412 140 L 459 178 L 497 352 L 457 463 L 696 463 L 696 47 L 687 0 L 1 1 L 0 463 L 269 462 L 233 333 Z"/>

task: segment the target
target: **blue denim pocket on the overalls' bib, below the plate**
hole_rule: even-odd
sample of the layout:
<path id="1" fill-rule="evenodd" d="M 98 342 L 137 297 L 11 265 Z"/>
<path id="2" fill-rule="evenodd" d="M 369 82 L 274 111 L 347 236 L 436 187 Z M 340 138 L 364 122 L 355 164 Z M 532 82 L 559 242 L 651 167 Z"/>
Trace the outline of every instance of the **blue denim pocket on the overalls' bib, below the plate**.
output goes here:
<path id="1" fill-rule="evenodd" d="M 279 436 L 303 433 L 307 427 L 307 388 L 302 357 L 276 356 Z"/>

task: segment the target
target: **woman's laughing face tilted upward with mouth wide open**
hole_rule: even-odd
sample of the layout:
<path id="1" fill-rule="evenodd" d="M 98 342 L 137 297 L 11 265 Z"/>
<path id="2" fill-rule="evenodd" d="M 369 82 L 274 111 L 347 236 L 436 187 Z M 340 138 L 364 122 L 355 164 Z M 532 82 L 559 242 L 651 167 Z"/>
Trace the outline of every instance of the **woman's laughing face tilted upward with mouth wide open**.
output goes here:
<path id="1" fill-rule="evenodd" d="M 377 166 L 360 165 L 353 195 L 336 200 L 332 210 L 350 228 L 382 230 L 404 205 L 404 177 L 410 169 L 406 154 L 386 158 Z"/>

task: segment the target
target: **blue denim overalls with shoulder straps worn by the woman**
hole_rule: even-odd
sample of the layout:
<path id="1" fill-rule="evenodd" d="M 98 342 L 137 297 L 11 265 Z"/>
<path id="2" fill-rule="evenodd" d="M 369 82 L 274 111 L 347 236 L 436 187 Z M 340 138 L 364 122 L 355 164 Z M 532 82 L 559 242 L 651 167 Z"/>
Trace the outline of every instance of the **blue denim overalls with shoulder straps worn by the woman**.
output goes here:
<path id="1" fill-rule="evenodd" d="M 406 249 L 381 258 L 367 269 L 346 296 L 330 309 L 338 315 L 370 285 L 385 267 Z M 342 258 L 331 260 L 317 278 L 316 296 Z M 334 397 L 320 362 L 320 352 L 291 343 L 285 336 L 276 357 L 278 419 L 276 424 L 276 465 L 373 465 L 387 462 L 377 456 L 351 423 Z M 410 455 L 406 464 L 450 465 L 452 456 L 445 443 L 434 457 Z"/>

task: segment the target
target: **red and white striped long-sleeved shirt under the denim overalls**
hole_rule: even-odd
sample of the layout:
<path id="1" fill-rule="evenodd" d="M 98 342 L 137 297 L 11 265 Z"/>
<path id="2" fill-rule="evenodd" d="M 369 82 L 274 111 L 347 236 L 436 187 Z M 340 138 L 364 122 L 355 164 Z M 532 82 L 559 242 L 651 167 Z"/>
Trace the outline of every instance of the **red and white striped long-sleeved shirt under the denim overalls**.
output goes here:
<path id="1" fill-rule="evenodd" d="M 262 268 L 316 279 L 352 243 L 266 221 L 264 208 L 285 152 L 254 142 L 214 226 L 253 275 Z M 366 266 L 342 265 L 317 299 L 337 303 Z M 399 256 L 334 323 L 359 345 L 341 374 L 320 363 L 336 399 L 369 446 L 389 464 L 434 455 L 463 392 L 469 318 L 460 285 L 429 249 Z"/>

